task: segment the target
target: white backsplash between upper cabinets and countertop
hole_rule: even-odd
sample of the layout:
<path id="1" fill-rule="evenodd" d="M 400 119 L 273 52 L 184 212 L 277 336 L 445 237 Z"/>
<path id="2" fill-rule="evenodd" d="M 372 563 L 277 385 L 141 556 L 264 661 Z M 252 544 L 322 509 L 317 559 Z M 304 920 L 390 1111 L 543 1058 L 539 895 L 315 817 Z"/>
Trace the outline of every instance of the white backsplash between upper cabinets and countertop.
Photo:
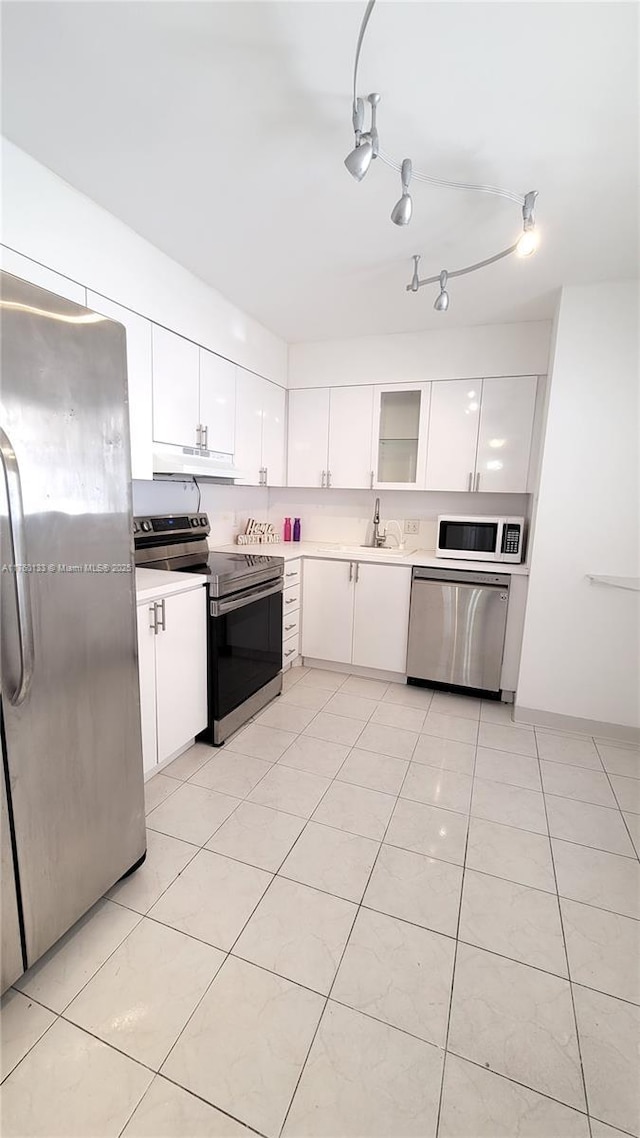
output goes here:
<path id="1" fill-rule="evenodd" d="M 380 498 L 383 526 L 394 519 L 404 528 L 418 522 L 418 534 L 405 534 L 408 549 L 435 547 L 437 517 L 453 514 L 531 514 L 528 494 L 454 494 L 432 490 L 321 490 L 293 486 L 221 486 L 215 483 L 157 479 L 133 483 L 133 512 L 206 511 L 210 544 L 227 545 L 245 529 L 248 518 L 282 527 L 286 517 L 301 519 L 302 539 L 360 544 L 370 537 L 374 503 Z M 392 529 L 392 533 L 394 530 Z"/>

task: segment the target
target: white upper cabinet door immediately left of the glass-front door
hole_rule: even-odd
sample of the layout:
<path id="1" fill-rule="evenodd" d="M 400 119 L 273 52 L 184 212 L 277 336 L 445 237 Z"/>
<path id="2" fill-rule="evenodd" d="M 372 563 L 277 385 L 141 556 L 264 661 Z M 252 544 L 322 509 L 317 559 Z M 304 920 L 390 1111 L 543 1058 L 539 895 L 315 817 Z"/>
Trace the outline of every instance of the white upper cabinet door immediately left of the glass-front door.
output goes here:
<path id="1" fill-rule="evenodd" d="M 369 489 L 372 485 L 372 387 L 333 387 L 329 406 L 327 484 Z"/>

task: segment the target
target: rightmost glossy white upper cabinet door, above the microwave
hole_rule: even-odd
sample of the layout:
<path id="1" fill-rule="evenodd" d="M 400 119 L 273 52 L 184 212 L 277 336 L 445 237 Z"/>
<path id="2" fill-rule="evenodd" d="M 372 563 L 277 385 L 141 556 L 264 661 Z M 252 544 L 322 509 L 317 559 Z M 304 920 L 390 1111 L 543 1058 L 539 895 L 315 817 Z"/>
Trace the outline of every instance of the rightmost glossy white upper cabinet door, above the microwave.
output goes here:
<path id="1" fill-rule="evenodd" d="M 536 387 L 535 376 L 483 380 L 477 490 L 517 494 L 527 489 Z"/>

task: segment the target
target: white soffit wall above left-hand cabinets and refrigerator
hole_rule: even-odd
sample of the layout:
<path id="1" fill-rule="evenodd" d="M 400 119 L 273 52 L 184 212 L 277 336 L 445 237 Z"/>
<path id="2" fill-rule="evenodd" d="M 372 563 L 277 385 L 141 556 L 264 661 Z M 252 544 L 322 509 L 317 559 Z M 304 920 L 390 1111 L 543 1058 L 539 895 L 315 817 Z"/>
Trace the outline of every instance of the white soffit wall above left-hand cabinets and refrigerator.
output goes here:
<path id="1" fill-rule="evenodd" d="M 286 387 L 284 340 L 6 139 L 2 244 Z"/>

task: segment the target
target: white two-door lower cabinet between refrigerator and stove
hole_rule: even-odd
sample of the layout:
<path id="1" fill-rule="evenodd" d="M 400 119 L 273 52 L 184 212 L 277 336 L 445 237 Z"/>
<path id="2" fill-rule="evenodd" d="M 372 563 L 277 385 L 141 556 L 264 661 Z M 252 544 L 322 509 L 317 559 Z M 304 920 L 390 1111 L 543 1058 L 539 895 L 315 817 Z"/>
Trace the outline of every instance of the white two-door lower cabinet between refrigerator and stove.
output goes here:
<path id="1" fill-rule="evenodd" d="M 206 589 L 138 605 L 145 772 L 206 727 Z"/>

